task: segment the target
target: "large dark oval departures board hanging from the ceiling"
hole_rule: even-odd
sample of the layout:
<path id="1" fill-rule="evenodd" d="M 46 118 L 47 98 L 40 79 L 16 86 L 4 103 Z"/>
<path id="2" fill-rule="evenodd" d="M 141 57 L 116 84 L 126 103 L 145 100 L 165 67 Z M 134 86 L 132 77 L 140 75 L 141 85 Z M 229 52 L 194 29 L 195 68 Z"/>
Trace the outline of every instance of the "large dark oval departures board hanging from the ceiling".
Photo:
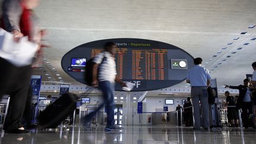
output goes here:
<path id="1" fill-rule="evenodd" d="M 103 52 L 107 41 L 117 45 L 117 75 L 135 84 L 133 91 L 171 87 L 185 80 L 194 66 L 193 56 L 179 47 L 145 39 L 105 39 L 82 44 L 62 57 L 62 69 L 76 81 L 85 84 L 87 60 Z M 116 90 L 122 91 L 119 84 Z"/>

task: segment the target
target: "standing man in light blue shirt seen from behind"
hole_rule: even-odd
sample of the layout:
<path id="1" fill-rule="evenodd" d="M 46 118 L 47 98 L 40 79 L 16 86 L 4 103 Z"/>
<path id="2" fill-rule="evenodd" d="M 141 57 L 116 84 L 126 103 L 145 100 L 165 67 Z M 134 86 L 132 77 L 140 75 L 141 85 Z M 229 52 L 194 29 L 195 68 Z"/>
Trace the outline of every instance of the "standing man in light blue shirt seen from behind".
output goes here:
<path id="1" fill-rule="evenodd" d="M 209 103 L 207 86 L 210 85 L 210 72 L 201 66 L 200 57 L 194 59 L 194 67 L 187 74 L 187 83 L 191 86 L 191 98 L 194 108 L 194 129 L 199 130 L 201 125 L 209 129 Z M 202 124 L 200 120 L 199 101 L 201 102 Z"/>

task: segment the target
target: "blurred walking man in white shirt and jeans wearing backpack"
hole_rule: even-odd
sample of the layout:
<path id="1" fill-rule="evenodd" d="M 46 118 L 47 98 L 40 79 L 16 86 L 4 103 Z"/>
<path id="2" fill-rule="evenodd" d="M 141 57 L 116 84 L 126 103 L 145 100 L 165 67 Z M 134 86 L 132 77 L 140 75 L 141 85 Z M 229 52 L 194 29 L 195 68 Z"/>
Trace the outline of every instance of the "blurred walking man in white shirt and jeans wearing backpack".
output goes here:
<path id="1" fill-rule="evenodd" d="M 103 92 L 104 104 L 107 111 L 106 131 L 120 131 L 121 128 L 114 124 L 114 86 L 115 82 L 122 87 L 126 87 L 126 83 L 121 81 L 116 72 L 116 62 L 114 55 L 116 53 L 116 44 L 107 42 L 104 45 L 104 52 L 94 57 L 95 63 L 92 67 L 92 87 L 98 87 Z M 98 110 L 103 108 L 101 104 L 97 110 L 85 116 L 85 124 L 88 123 Z"/>

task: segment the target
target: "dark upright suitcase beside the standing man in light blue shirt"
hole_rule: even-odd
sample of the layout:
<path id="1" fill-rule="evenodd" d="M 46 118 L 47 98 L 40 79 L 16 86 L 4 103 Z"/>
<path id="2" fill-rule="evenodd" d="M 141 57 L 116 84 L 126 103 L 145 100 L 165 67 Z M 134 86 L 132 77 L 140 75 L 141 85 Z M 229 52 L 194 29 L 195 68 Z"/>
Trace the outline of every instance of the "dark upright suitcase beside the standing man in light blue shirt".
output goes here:
<path id="1" fill-rule="evenodd" d="M 220 108 L 218 104 L 210 104 L 210 130 L 213 132 L 222 130 L 222 123 L 220 120 Z"/>

